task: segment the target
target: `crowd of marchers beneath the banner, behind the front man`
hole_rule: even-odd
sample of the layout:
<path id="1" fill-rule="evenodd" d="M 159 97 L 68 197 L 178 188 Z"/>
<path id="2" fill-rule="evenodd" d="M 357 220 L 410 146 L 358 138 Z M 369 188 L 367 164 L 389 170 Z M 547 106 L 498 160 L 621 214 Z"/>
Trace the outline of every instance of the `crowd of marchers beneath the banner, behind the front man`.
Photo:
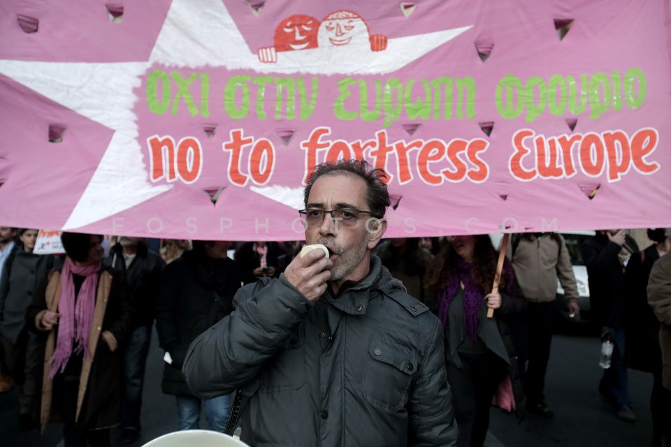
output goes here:
<path id="1" fill-rule="evenodd" d="M 642 250 L 624 230 L 597 231 L 582 247 L 591 320 L 614 344 L 598 390 L 616 416 L 633 422 L 627 369 L 650 372 L 654 446 L 671 441 L 668 337 L 660 345 L 660 329 L 670 332 L 671 268 L 660 266 L 654 283 L 649 277 L 658 259 L 671 256 L 670 230 L 649 230 L 653 243 Z M 66 446 L 108 446 L 110 427 L 121 425 L 123 441 L 136 441 L 155 321 L 166 352 L 162 389 L 175 395 L 175 429 L 198 428 L 202 408 L 207 428 L 224 432 L 234 393 L 192 393 L 182 373 L 187 349 L 233 312 L 241 286 L 279 278 L 303 243 L 117 236 L 103 256 L 101 237 L 63 233 L 64 255 L 38 256 L 36 235 L 0 227 L 0 392 L 16 386 L 19 429 L 43 430 L 59 420 Z M 553 416 L 544 379 L 557 281 L 568 312 L 580 312 L 561 235 L 513 235 L 500 275 L 497 248 L 487 235 L 466 235 L 388 239 L 374 251 L 442 323 L 458 446 L 484 444 L 492 402 L 518 420 L 525 410 Z M 488 309 L 496 310 L 493 318 Z"/>

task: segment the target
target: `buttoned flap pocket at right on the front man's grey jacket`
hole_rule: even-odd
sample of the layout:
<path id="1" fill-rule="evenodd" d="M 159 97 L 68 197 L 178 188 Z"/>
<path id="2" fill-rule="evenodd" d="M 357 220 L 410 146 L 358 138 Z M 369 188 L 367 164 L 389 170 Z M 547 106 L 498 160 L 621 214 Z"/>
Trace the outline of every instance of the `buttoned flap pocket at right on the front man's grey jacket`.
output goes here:
<path id="1" fill-rule="evenodd" d="M 407 348 L 380 338 L 371 339 L 363 373 L 363 397 L 384 409 L 402 409 L 418 366 L 417 355 Z"/>

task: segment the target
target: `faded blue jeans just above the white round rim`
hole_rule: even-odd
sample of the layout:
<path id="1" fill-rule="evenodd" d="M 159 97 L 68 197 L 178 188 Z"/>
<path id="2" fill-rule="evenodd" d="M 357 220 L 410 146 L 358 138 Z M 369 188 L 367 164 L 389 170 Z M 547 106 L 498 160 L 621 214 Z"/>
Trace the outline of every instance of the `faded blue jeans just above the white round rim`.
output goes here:
<path id="1" fill-rule="evenodd" d="M 175 396 L 177 400 L 177 430 L 197 430 L 201 418 L 201 402 L 205 407 L 208 430 L 224 432 L 231 411 L 231 395 L 213 399 L 199 399 L 190 396 Z"/>

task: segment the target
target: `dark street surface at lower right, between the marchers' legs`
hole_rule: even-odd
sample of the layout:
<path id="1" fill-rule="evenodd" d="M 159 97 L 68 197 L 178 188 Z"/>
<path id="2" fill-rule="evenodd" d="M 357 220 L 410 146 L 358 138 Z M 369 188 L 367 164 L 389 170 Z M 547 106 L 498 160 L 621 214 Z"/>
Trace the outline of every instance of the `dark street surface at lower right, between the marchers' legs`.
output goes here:
<path id="1" fill-rule="evenodd" d="M 629 370 L 629 393 L 638 420 L 626 423 L 614 416 L 598 393 L 603 374 L 599 350 L 595 337 L 556 335 L 545 393 L 554 418 L 532 414 L 517 425 L 514 416 L 494 409 L 490 432 L 504 446 L 515 447 L 649 446 L 652 375 Z"/>

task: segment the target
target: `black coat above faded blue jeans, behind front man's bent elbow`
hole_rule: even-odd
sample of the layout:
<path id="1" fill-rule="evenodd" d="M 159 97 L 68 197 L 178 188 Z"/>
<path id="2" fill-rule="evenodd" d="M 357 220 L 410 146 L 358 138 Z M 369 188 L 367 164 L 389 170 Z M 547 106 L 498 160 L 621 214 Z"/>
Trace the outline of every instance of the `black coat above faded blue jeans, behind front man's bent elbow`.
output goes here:
<path id="1" fill-rule="evenodd" d="M 189 344 L 233 310 L 240 273 L 231 259 L 212 259 L 196 251 L 166 265 L 156 312 L 161 348 L 172 363 L 164 365 L 163 392 L 192 396 L 182 375 Z"/>

